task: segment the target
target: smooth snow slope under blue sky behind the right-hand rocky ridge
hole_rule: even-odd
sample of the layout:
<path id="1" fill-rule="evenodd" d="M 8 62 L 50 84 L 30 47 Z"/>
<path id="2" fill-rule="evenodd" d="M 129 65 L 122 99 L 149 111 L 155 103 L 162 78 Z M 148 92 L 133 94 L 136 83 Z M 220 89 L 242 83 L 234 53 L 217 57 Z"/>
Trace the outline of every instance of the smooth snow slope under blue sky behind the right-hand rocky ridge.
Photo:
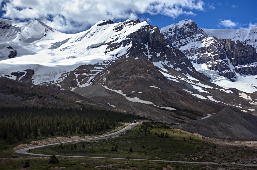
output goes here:
<path id="1" fill-rule="evenodd" d="M 232 41 L 239 40 L 245 44 L 252 45 L 257 48 L 257 26 L 245 29 L 205 29 L 202 30 L 210 37 L 217 37 L 222 39 L 231 39 Z"/>

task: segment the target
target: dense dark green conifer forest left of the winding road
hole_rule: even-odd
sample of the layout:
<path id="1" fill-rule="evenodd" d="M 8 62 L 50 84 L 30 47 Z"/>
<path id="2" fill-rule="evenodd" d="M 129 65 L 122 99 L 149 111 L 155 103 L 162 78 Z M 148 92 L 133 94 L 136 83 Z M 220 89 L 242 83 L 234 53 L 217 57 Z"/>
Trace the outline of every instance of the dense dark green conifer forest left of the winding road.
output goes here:
<path id="1" fill-rule="evenodd" d="M 131 122 L 139 117 L 117 111 L 92 108 L 63 109 L 38 107 L 0 108 L 0 138 L 14 144 L 16 140 L 72 135 L 74 133 L 97 134 Z"/>

